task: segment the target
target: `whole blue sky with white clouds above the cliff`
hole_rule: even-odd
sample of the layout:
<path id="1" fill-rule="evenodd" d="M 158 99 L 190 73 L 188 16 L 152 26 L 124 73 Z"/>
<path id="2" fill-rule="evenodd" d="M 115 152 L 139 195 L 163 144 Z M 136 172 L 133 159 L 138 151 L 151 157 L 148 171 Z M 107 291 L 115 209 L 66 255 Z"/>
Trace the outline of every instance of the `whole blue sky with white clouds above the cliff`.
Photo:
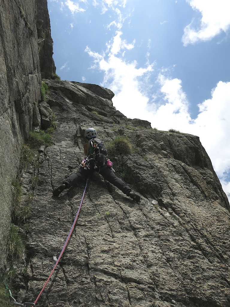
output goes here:
<path id="1" fill-rule="evenodd" d="M 230 2 L 48 0 L 62 80 L 110 88 L 159 130 L 198 135 L 230 192 Z"/>

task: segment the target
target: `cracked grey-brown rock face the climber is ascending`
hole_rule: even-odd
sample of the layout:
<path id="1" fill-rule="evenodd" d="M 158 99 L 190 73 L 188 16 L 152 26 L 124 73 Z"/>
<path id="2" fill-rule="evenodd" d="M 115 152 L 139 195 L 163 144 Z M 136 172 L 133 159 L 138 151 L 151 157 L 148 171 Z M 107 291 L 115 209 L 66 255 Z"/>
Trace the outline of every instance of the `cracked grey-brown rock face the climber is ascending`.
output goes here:
<path id="1" fill-rule="evenodd" d="M 230 208 L 199 138 L 126 118 L 108 89 L 48 85 L 58 128 L 54 144 L 41 148 L 23 175 L 34 199 L 18 300 L 35 301 L 62 250 L 85 182 L 59 197 L 52 189 L 79 168 L 84 130 L 94 127 L 107 145 L 129 138 L 133 153 L 110 158 L 142 199 L 135 203 L 98 173 L 90 177 L 71 239 L 37 306 L 229 306 Z M 39 177 L 34 188 L 32 174 Z"/>

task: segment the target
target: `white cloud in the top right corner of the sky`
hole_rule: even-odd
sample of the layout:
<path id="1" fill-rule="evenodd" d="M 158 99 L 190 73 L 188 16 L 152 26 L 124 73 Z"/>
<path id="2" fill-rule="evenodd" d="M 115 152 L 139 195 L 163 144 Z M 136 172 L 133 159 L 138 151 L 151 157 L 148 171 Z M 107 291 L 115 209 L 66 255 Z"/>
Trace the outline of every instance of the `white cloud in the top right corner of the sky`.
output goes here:
<path id="1" fill-rule="evenodd" d="M 230 1 L 228 0 L 186 0 L 194 10 L 202 14 L 199 29 L 195 29 L 194 21 L 184 29 L 182 41 L 184 45 L 197 41 L 211 40 L 221 31 L 230 27 Z"/>

